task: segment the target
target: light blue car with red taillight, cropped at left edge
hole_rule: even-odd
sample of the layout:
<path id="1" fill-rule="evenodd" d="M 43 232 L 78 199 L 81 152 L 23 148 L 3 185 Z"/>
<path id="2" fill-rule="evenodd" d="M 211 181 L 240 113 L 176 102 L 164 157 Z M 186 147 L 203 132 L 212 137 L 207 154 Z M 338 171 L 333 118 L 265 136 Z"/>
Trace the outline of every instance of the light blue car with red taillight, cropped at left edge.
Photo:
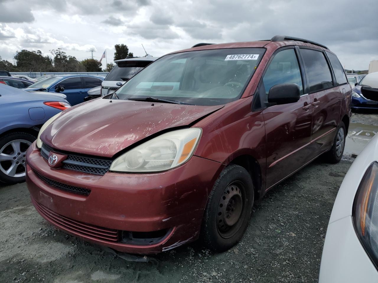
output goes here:
<path id="1" fill-rule="evenodd" d="M 61 95 L 31 95 L 0 84 L 0 182 L 25 181 L 26 149 L 48 119 L 69 107 Z"/>

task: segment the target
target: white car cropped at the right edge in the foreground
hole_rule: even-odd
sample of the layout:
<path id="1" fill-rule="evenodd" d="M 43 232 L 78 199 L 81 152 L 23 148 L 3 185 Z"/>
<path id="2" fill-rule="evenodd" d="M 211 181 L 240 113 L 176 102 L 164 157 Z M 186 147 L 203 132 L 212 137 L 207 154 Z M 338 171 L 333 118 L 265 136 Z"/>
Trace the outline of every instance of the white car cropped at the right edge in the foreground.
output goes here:
<path id="1" fill-rule="evenodd" d="M 350 166 L 325 236 L 319 283 L 378 282 L 378 135 Z"/>

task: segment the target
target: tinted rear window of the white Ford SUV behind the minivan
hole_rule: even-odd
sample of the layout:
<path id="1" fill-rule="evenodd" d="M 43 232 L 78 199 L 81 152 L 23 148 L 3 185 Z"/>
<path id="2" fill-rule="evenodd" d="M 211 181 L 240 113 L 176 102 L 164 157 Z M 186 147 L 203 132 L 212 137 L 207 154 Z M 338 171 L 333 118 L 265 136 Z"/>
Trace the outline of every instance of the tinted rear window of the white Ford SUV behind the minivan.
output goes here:
<path id="1" fill-rule="evenodd" d="M 150 63 L 150 61 L 118 62 L 106 76 L 105 81 L 127 81 Z"/>

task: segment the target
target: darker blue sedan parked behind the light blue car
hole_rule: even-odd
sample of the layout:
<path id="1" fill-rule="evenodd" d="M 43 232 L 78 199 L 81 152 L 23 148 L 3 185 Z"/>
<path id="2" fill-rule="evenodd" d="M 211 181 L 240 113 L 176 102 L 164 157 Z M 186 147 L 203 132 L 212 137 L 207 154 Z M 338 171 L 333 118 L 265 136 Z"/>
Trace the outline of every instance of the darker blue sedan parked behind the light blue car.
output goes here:
<path id="1" fill-rule="evenodd" d="M 88 75 L 62 75 L 48 77 L 25 88 L 26 91 L 60 92 L 67 96 L 73 106 L 84 102 L 88 90 L 102 83 L 101 77 Z"/>

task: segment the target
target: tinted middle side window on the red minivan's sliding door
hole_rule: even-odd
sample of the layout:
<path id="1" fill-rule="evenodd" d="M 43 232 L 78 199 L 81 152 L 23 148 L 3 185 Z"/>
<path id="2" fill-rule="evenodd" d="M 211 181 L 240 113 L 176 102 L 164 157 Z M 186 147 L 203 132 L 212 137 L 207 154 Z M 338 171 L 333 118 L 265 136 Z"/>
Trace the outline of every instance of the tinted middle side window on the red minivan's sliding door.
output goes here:
<path id="1" fill-rule="evenodd" d="M 308 76 L 309 92 L 332 88 L 332 75 L 323 52 L 305 48 L 300 50 Z"/>

